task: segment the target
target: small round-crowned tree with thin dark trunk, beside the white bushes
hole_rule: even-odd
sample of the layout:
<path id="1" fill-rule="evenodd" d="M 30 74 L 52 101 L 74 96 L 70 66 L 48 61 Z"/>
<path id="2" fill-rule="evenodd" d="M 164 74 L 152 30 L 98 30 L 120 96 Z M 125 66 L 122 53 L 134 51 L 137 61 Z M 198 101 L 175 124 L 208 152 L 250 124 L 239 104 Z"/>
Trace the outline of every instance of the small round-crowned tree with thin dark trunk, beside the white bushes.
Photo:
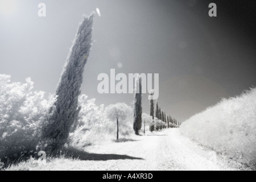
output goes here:
<path id="1" fill-rule="evenodd" d="M 118 122 L 120 121 L 125 121 L 128 114 L 131 112 L 131 107 L 126 105 L 125 103 L 117 103 L 117 104 L 112 104 L 106 107 L 106 117 L 108 117 L 110 120 L 117 121 L 117 140 L 118 140 L 118 134 L 119 134 L 119 127 L 118 127 Z"/>

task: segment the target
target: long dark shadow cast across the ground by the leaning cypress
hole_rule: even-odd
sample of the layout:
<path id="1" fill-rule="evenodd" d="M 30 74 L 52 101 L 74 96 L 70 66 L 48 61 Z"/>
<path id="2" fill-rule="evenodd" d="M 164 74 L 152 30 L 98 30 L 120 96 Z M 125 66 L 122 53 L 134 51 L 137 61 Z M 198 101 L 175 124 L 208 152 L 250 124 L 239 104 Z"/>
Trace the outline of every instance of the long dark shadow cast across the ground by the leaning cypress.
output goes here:
<path id="1" fill-rule="evenodd" d="M 144 160 L 143 158 L 135 158 L 129 155 L 88 153 L 85 151 L 77 150 L 76 148 L 66 148 L 65 156 L 78 158 L 79 160 L 119 160 L 119 159 Z"/>

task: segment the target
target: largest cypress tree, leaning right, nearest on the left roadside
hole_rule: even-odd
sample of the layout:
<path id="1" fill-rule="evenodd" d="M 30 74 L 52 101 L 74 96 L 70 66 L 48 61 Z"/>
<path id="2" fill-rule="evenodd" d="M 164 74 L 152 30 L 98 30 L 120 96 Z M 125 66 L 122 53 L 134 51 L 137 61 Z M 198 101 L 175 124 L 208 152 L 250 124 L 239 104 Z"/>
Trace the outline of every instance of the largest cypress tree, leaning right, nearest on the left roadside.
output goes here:
<path id="1" fill-rule="evenodd" d="M 52 152 L 67 142 L 71 126 L 80 111 L 78 97 L 84 65 L 92 43 L 92 25 L 93 14 L 84 16 L 56 88 L 57 100 L 49 109 L 49 115 L 43 126 L 42 137 L 54 141 L 49 148 Z"/>

